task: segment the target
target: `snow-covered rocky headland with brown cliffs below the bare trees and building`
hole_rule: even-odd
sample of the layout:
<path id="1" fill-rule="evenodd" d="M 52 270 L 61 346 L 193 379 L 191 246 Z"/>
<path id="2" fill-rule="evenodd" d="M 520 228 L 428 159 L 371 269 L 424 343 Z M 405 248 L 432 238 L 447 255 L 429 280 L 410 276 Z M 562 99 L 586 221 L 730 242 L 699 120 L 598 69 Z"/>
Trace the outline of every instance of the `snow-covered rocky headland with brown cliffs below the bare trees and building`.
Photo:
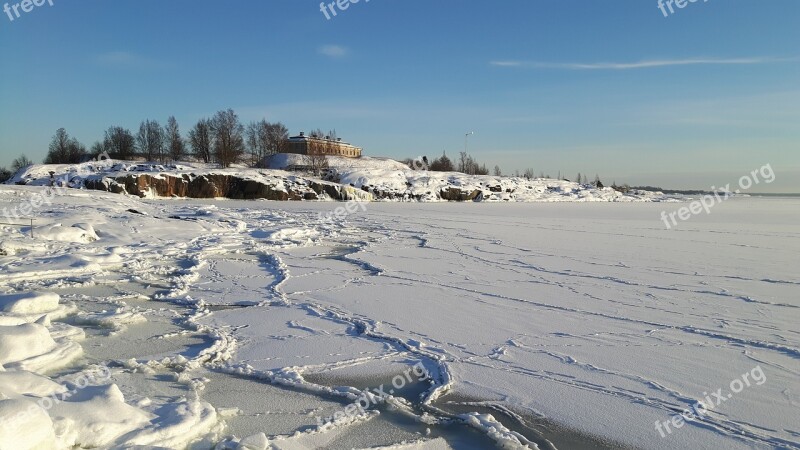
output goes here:
<path id="1" fill-rule="evenodd" d="M 354 160 L 358 162 L 358 160 Z M 381 162 L 383 163 L 383 162 Z M 355 163 L 354 163 L 355 164 Z M 373 161 L 373 164 L 377 164 Z M 398 163 L 399 164 L 399 163 Z M 323 178 L 273 169 L 217 169 L 188 164 L 120 162 L 102 170 L 40 165 L 11 182 L 48 186 L 50 173 L 74 188 L 161 198 L 238 200 L 394 200 L 420 202 L 663 201 L 663 194 L 623 194 L 610 188 L 546 178 L 491 177 L 394 167 L 331 169 Z M 63 181 L 61 181 L 63 183 Z"/>

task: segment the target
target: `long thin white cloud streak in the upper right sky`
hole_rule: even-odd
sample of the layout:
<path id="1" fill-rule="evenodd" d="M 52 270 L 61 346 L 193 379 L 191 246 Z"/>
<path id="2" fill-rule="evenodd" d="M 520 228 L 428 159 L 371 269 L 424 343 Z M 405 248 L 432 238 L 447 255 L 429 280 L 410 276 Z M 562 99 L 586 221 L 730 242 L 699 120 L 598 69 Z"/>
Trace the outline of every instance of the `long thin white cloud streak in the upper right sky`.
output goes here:
<path id="1" fill-rule="evenodd" d="M 631 70 L 650 69 L 656 67 L 700 66 L 700 65 L 756 65 L 798 61 L 798 58 L 687 58 L 687 59 L 652 59 L 630 63 L 550 63 L 538 61 L 491 61 L 496 67 L 525 67 L 533 69 L 562 70 Z"/>

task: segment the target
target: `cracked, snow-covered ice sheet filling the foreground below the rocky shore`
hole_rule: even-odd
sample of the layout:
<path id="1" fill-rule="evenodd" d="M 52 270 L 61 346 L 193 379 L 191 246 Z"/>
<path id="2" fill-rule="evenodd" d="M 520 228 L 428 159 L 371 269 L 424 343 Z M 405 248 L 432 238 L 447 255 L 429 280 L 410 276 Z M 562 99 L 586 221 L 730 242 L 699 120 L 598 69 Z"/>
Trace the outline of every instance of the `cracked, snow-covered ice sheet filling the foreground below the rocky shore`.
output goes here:
<path id="1" fill-rule="evenodd" d="M 337 206 L 0 225 L 0 448 L 800 448 L 800 200 Z"/>

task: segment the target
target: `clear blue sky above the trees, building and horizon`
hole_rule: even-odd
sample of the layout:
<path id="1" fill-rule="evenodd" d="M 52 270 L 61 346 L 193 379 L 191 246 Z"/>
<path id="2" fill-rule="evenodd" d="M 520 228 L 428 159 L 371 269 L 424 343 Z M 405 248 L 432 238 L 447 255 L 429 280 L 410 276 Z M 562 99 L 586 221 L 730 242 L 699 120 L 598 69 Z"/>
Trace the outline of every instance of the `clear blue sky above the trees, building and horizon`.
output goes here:
<path id="1" fill-rule="evenodd" d="M 769 163 L 759 191 L 800 192 L 797 0 L 361 0 L 330 20 L 306 0 L 52 1 L 0 15 L 0 165 L 59 127 L 89 146 L 233 108 L 368 155 L 455 156 L 475 131 L 505 173 L 709 188 Z"/>

